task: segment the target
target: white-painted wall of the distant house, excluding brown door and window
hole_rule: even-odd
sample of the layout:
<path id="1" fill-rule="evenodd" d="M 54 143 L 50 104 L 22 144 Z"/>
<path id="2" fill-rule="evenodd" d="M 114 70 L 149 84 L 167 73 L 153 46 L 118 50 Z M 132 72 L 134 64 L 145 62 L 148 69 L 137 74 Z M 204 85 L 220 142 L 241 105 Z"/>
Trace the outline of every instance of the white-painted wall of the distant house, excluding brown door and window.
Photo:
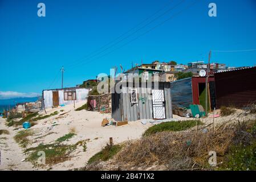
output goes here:
<path id="1" fill-rule="evenodd" d="M 68 90 L 65 90 L 65 92 Z M 74 104 L 74 101 L 64 101 L 64 90 L 59 90 L 59 105 L 70 105 Z M 75 102 L 87 101 L 89 90 L 88 89 L 76 89 L 76 100 Z M 44 90 L 44 105 L 46 108 L 52 107 L 52 90 Z"/>

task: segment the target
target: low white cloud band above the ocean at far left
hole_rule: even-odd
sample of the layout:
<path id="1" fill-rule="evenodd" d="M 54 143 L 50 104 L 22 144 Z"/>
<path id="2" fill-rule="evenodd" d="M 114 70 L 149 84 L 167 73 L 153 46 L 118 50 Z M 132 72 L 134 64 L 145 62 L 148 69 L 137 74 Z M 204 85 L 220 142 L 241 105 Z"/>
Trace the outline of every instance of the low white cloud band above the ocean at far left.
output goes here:
<path id="1" fill-rule="evenodd" d="M 21 92 L 13 92 L 13 91 L 0 91 L 0 99 L 9 99 L 9 98 L 32 98 L 38 97 L 39 93 L 21 93 Z"/>

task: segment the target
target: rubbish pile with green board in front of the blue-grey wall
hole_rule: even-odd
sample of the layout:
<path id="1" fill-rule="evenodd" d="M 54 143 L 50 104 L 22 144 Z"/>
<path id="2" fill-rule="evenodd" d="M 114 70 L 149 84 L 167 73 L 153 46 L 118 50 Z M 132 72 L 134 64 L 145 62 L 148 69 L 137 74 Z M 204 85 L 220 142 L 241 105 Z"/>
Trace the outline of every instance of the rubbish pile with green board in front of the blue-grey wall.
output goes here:
<path id="1" fill-rule="evenodd" d="M 189 107 L 174 107 L 173 114 L 186 118 L 202 118 L 205 117 L 204 107 L 201 105 L 189 105 Z"/>

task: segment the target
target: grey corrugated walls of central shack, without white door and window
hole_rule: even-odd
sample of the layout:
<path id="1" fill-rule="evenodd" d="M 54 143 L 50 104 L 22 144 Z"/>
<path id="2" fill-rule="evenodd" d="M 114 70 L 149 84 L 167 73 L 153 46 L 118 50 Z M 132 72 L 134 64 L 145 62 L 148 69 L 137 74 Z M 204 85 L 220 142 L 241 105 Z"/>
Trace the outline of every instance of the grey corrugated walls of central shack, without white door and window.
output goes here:
<path id="1" fill-rule="evenodd" d="M 152 106 L 152 88 L 147 88 L 149 92 L 142 92 L 147 85 L 135 86 L 137 88 L 138 103 L 131 103 L 131 96 L 128 90 L 128 83 L 124 82 L 121 86 L 122 93 L 112 93 L 112 118 L 115 121 L 137 121 L 139 119 L 153 119 L 153 106 Z M 172 118 L 172 103 L 170 98 L 170 85 L 169 82 L 159 82 L 159 88 L 164 90 L 165 97 L 165 115 L 166 118 Z M 126 93 L 124 92 L 126 90 Z"/>

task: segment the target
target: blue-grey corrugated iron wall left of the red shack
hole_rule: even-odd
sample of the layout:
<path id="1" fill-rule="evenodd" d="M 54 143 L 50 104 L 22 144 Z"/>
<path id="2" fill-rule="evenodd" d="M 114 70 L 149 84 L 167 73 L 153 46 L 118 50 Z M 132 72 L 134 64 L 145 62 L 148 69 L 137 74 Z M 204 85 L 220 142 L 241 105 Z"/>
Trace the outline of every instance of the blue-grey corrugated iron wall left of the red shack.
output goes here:
<path id="1" fill-rule="evenodd" d="M 170 95 L 173 107 L 189 107 L 190 104 L 193 104 L 192 78 L 170 82 Z"/>

